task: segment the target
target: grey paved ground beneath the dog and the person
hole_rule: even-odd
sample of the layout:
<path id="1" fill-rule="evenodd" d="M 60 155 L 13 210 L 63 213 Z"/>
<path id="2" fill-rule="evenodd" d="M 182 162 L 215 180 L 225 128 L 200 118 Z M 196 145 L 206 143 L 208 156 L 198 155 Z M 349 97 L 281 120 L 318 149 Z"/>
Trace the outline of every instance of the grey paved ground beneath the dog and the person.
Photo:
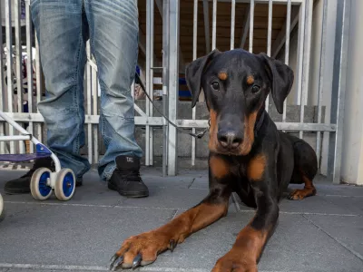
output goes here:
<path id="1" fill-rule="evenodd" d="M 5 180 L 24 173 L 10 169 L 0 167 L 0 191 Z M 162 178 L 157 169 L 142 173 L 150 188 L 147 199 L 120 197 L 94 170 L 68 202 L 3 193 L 0 271 L 105 271 L 124 238 L 160 226 L 207 194 L 206 171 L 183 171 L 172 178 Z M 316 197 L 282 200 L 280 224 L 259 271 L 363 271 L 363 188 L 332 186 L 322 179 L 316 183 Z M 211 271 L 252 216 L 251 209 L 231 200 L 228 217 L 140 270 Z"/>

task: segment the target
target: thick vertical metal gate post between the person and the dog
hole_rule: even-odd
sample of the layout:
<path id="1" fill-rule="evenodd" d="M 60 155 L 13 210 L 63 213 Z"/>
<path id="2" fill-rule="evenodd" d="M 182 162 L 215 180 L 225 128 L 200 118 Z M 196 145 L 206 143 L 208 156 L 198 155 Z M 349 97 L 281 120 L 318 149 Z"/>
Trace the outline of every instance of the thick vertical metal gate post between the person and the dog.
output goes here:
<path id="1" fill-rule="evenodd" d="M 171 1 L 170 12 L 170 44 L 169 44 L 169 119 L 174 122 L 178 111 L 178 91 L 179 91 L 179 5 L 180 1 Z M 178 134 L 176 128 L 169 126 L 168 144 L 168 175 L 174 176 L 177 173 L 177 146 Z"/>

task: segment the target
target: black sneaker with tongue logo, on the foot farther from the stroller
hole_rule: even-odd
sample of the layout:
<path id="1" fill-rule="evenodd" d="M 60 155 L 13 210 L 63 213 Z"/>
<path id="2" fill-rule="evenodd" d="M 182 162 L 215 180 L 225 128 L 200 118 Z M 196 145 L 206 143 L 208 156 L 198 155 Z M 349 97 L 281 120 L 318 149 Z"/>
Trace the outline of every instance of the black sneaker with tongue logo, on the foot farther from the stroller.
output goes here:
<path id="1" fill-rule="evenodd" d="M 108 180 L 108 188 L 117 190 L 120 195 L 129 198 L 144 198 L 149 196 L 149 189 L 140 177 L 140 159 L 133 156 L 116 158 L 117 168 Z"/>

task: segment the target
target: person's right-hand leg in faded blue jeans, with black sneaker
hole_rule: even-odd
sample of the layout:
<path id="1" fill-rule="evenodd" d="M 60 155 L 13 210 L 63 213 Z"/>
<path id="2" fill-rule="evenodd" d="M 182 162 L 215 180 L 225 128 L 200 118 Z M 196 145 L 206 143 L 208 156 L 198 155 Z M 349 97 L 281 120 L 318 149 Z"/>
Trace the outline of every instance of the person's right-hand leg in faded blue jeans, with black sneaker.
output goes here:
<path id="1" fill-rule="evenodd" d="M 147 196 L 148 190 L 138 178 L 142 149 L 134 137 L 131 95 L 138 56 L 137 1 L 85 0 L 84 5 L 101 86 L 100 131 L 106 152 L 99 162 L 99 174 L 109 181 L 110 189 L 122 195 Z M 127 182 L 130 185 L 121 189 L 115 170 L 122 174 L 132 170 L 133 175 L 117 179 L 138 182 Z"/>

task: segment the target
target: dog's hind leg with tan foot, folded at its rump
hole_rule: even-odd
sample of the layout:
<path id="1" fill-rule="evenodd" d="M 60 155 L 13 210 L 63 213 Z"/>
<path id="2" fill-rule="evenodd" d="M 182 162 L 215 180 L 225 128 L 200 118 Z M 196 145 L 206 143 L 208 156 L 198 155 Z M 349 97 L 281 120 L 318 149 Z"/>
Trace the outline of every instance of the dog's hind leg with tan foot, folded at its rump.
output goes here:
<path id="1" fill-rule="evenodd" d="M 290 138 L 294 141 L 295 165 L 292 177 L 297 177 L 300 181 L 304 182 L 305 185 L 304 189 L 293 190 L 289 194 L 288 198 L 292 200 L 300 200 L 314 196 L 317 193 L 317 189 L 315 189 L 312 180 L 318 171 L 318 160 L 315 151 L 306 141 L 294 138 Z M 295 183 L 294 180 L 291 180 L 291 183 Z"/>

